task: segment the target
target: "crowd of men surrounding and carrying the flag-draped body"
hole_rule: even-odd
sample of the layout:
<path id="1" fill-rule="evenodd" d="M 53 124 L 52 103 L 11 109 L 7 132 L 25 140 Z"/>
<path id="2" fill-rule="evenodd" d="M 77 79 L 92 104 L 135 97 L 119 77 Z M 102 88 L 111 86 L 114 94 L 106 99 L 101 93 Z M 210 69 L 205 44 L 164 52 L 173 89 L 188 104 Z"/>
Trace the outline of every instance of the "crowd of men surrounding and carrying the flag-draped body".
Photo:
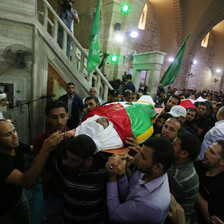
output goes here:
<path id="1" fill-rule="evenodd" d="M 131 78 L 126 81 L 122 99 L 112 90 L 105 104 L 137 101 Z M 188 90 L 160 91 L 155 106 L 163 109 L 153 121 L 153 135 L 141 145 L 128 137 L 129 152 L 119 155 L 98 152 L 89 135 L 71 132 L 84 114 L 102 106 L 94 87 L 81 99 L 68 83 L 67 94 L 46 105 L 49 128 L 32 146 L 19 142 L 11 121 L 2 117 L 0 223 L 30 223 L 24 187 L 41 175 L 44 223 L 223 224 L 224 106 L 221 93 L 216 102 L 209 94 L 215 93 L 192 101 Z M 109 122 L 97 120 L 102 129 Z M 27 171 L 24 153 L 34 155 Z"/>

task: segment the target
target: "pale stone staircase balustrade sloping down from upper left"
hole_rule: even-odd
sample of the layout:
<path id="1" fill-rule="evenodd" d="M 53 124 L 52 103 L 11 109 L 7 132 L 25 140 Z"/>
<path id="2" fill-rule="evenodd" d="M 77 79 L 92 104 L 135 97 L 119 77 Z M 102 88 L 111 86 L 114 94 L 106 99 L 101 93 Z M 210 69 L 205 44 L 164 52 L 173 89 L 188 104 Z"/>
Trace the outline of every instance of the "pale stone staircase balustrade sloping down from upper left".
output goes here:
<path id="1" fill-rule="evenodd" d="M 69 29 L 61 21 L 55 10 L 51 7 L 47 0 L 42 0 L 39 4 L 43 4 L 43 11 L 37 11 L 36 26 L 38 31 L 45 42 L 50 46 L 51 51 L 57 55 L 57 63 L 66 65 L 60 72 L 61 77 L 66 81 L 76 80 L 78 81 L 78 87 L 89 90 L 90 87 L 94 86 L 97 88 L 99 96 L 106 101 L 108 90 L 112 89 L 107 79 L 96 67 L 92 73 L 87 72 L 87 57 L 88 53 L 82 48 L 80 43 L 72 35 Z M 60 24 L 64 31 L 62 49 L 57 43 L 58 36 L 58 24 Z M 73 40 L 71 60 L 66 56 L 67 49 L 67 36 L 70 36 Z M 59 63 L 60 62 L 60 63 Z M 69 71 L 68 71 L 69 70 Z"/>

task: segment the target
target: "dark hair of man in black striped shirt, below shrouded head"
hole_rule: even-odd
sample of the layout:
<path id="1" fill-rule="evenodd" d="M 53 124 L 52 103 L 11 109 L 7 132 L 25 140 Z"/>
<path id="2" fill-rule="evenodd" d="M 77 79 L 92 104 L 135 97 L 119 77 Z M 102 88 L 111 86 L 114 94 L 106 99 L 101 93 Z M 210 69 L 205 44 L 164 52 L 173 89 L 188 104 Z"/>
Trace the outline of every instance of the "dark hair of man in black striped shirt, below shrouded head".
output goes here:
<path id="1" fill-rule="evenodd" d="M 81 157 L 86 159 L 92 157 L 96 151 L 96 144 L 88 135 L 78 135 L 72 138 L 66 145 L 66 149 Z"/>

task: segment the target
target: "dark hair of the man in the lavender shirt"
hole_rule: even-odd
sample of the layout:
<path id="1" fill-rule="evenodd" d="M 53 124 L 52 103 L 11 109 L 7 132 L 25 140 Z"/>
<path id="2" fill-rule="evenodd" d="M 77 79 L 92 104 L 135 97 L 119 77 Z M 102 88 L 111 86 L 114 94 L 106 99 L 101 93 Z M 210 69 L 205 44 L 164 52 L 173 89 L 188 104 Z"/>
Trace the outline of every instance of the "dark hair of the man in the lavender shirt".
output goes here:
<path id="1" fill-rule="evenodd" d="M 165 173 L 174 160 L 173 144 L 170 140 L 161 137 L 152 137 L 147 139 L 145 146 L 153 149 L 152 163 L 161 163 Z"/>

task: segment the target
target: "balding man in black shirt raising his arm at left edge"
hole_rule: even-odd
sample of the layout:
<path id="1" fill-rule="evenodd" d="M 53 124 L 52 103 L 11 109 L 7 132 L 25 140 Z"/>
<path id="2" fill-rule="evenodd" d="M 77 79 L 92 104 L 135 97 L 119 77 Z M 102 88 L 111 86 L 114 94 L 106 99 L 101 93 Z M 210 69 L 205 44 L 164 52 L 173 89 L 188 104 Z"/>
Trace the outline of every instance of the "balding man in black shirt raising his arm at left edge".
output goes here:
<path id="1" fill-rule="evenodd" d="M 0 223 L 10 221 L 18 224 L 29 223 L 29 206 L 23 194 L 23 187 L 33 186 L 47 158 L 55 146 L 63 140 L 60 131 L 44 141 L 41 152 L 32 167 L 24 173 L 23 154 L 30 147 L 19 143 L 17 132 L 8 120 L 0 120 Z"/>

